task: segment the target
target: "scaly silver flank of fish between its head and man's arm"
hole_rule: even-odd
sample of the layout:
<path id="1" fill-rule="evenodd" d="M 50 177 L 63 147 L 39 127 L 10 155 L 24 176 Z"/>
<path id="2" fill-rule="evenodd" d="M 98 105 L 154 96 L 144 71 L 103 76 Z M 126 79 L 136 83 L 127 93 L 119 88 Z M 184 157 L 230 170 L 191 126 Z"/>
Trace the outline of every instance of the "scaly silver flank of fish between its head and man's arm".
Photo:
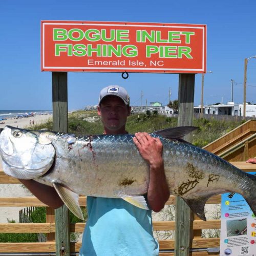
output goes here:
<path id="1" fill-rule="evenodd" d="M 55 166 L 44 181 L 57 181 L 82 195 L 122 197 L 145 194 L 149 174 L 131 135 L 78 138 L 72 144 L 56 137 Z M 67 168 L 68 166 L 68 168 Z M 63 168 L 67 171 L 63 172 Z M 75 177 L 75 178 L 74 178 Z"/>

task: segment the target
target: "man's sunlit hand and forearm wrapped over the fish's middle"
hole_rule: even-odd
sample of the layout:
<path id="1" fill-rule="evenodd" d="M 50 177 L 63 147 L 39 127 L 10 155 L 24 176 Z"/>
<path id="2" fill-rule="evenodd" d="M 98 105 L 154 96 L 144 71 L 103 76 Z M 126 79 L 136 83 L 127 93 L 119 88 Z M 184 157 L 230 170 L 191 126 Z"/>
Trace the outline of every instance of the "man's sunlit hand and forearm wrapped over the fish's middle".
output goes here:
<path id="1" fill-rule="evenodd" d="M 150 165 L 150 184 L 147 201 L 155 212 L 160 211 L 170 196 L 163 165 L 163 145 L 159 138 L 147 133 L 136 133 L 134 143 L 142 158 Z"/>

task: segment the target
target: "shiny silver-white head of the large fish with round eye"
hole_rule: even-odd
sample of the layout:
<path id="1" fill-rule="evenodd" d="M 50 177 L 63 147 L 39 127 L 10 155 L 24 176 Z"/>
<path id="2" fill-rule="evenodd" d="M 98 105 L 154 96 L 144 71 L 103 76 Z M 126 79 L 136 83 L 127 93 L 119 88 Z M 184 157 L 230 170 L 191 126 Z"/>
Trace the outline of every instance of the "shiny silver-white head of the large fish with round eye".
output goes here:
<path id="1" fill-rule="evenodd" d="M 44 175 L 55 157 L 51 143 L 53 137 L 52 132 L 6 126 L 0 134 L 4 172 L 17 179 L 33 179 Z"/>

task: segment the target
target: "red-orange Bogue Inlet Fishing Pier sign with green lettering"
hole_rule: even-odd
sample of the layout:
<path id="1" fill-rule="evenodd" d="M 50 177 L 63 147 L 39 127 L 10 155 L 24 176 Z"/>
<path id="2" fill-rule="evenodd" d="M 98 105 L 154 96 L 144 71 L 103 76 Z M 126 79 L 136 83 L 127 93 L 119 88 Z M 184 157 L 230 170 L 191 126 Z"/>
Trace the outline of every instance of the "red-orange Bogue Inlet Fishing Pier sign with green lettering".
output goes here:
<path id="1" fill-rule="evenodd" d="M 41 70 L 205 73 L 206 25 L 42 20 Z"/>

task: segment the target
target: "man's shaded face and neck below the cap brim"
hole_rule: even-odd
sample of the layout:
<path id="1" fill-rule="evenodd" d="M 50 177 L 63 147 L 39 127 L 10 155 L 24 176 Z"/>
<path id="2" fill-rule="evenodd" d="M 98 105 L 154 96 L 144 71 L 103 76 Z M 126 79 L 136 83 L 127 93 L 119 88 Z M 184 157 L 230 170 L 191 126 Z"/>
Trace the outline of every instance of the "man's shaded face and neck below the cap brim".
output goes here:
<path id="1" fill-rule="evenodd" d="M 125 133 L 125 123 L 130 112 L 131 107 L 127 107 L 122 99 L 112 95 L 106 96 L 98 106 L 98 115 L 101 116 L 104 132 L 106 134 Z"/>

